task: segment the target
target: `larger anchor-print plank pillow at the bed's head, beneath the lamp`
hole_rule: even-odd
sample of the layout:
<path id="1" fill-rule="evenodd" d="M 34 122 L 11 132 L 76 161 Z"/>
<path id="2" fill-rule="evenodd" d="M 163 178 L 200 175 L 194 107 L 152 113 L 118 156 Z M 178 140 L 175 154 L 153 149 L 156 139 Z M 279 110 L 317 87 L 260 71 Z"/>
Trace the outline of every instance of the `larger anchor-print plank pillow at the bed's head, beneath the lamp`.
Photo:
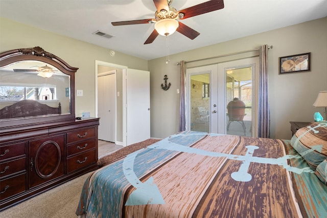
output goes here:
<path id="1" fill-rule="evenodd" d="M 291 145 L 315 171 L 327 158 L 327 122 L 313 122 L 297 130 Z"/>

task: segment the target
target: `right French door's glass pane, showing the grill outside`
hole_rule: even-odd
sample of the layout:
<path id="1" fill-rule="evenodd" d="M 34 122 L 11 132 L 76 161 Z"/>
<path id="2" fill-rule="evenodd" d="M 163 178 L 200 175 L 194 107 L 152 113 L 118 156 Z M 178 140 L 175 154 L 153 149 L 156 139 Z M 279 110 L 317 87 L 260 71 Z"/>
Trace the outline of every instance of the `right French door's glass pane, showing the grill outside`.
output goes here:
<path id="1" fill-rule="evenodd" d="M 226 133 L 252 136 L 252 67 L 226 70 Z"/>

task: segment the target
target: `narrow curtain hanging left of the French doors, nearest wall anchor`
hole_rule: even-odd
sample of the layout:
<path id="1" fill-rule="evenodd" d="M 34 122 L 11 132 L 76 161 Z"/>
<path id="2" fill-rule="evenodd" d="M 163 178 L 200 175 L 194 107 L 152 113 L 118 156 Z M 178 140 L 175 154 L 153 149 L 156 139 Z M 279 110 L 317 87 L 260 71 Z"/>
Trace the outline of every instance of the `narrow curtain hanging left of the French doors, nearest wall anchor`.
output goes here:
<path id="1" fill-rule="evenodd" d="M 179 131 L 185 130 L 185 61 L 180 61 Z"/>

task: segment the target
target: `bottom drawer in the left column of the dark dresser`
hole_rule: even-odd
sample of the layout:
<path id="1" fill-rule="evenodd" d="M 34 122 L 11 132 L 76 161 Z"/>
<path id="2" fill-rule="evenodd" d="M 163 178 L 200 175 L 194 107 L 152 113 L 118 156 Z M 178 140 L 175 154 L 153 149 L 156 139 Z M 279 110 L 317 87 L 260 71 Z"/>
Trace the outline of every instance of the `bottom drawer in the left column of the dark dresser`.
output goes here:
<path id="1" fill-rule="evenodd" d="M 26 174 L 14 176 L 0 181 L 0 200 L 16 195 L 26 190 Z"/>

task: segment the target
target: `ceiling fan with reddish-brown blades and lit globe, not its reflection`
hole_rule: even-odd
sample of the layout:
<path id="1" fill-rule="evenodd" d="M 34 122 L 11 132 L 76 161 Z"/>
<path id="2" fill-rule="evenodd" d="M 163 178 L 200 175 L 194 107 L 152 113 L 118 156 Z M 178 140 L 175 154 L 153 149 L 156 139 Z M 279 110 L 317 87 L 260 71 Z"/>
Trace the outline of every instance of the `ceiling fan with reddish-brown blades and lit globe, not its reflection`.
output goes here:
<path id="1" fill-rule="evenodd" d="M 153 3 L 157 9 L 154 15 L 155 18 L 111 22 L 111 24 L 113 26 L 122 26 L 122 25 L 142 24 L 142 23 L 155 23 L 154 25 L 155 29 L 150 34 L 149 38 L 144 42 L 144 44 L 152 43 L 159 34 L 163 36 L 169 36 L 173 34 L 175 31 L 193 40 L 198 35 L 200 35 L 200 33 L 177 20 L 194 17 L 200 14 L 204 14 L 224 8 L 223 0 L 211 0 L 208 2 L 204 2 L 192 6 L 190 8 L 177 11 L 175 8 L 170 7 L 172 2 L 173 0 L 153 0 Z"/>

